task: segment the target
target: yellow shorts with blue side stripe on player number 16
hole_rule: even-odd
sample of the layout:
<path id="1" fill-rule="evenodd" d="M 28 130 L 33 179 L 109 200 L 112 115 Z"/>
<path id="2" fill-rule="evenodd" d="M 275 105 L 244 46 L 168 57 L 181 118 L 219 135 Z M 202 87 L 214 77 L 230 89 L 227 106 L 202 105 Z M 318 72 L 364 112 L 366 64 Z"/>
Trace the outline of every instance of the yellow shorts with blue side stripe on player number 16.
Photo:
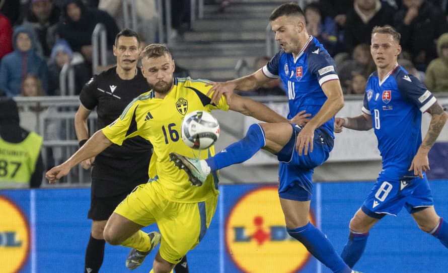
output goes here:
<path id="1" fill-rule="evenodd" d="M 114 212 L 142 226 L 157 223 L 162 234 L 160 255 L 178 263 L 205 235 L 217 200 L 212 196 L 199 203 L 172 202 L 146 183 L 132 191 Z"/>

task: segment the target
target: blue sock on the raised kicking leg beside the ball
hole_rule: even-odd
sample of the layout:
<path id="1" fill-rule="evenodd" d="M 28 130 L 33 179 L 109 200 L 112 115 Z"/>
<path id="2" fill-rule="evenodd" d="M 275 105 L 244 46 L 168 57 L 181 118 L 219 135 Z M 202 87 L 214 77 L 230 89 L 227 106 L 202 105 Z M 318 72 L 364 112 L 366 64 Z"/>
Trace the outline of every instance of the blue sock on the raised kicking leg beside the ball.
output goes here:
<path id="1" fill-rule="evenodd" d="M 246 136 L 205 159 L 211 171 L 222 169 L 233 164 L 241 163 L 251 158 L 258 150 L 266 145 L 264 131 L 259 124 L 252 124 Z"/>

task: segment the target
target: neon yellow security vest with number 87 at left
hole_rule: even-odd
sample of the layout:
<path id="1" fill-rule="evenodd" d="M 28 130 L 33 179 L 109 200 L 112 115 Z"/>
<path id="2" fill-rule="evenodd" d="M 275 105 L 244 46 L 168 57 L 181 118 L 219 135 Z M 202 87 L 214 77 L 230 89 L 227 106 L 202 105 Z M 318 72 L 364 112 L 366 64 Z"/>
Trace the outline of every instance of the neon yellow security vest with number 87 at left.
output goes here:
<path id="1" fill-rule="evenodd" d="M 0 137 L 0 189 L 29 188 L 42 146 L 42 137 L 34 132 L 20 143 Z"/>

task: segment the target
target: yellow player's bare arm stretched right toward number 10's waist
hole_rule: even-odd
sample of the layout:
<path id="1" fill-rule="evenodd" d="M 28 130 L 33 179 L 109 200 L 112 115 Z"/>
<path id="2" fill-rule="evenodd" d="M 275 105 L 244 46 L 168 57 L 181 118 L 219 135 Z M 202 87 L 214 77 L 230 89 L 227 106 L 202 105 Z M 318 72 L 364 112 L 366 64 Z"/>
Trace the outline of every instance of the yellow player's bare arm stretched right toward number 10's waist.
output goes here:
<path id="1" fill-rule="evenodd" d="M 232 95 L 229 109 L 264 122 L 289 122 L 286 118 L 280 116 L 266 105 L 237 94 Z"/>

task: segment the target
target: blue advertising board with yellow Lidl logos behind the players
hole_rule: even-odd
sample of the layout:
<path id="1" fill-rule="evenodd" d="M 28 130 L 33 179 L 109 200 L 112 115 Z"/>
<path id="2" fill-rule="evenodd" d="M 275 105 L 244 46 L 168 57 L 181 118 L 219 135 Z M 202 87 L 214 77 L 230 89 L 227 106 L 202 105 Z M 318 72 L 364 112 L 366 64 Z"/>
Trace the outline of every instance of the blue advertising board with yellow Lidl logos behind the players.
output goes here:
<path id="1" fill-rule="evenodd" d="M 448 220 L 448 180 L 431 181 L 436 211 Z M 372 183 L 315 184 L 310 216 L 335 248 Z M 220 186 L 218 208 L 202 242 L 188 253 L 190 272 L 329 273 L 285 230 L 275 185 Z M 91 221 L 89 189 L 0 191 L 1 272 L 82 272 Z M 146 227 L 145 231 L 157 226 Z M 127 271 L 129 248 L 106 244 L 102 272 Z M 133 272 L 148 272 L 155 253 Z M 448 268 L 448 250 L 420 231 L 403 210 L 370 232 L 356 264 L 363 272 L 435 273 Z"/>

